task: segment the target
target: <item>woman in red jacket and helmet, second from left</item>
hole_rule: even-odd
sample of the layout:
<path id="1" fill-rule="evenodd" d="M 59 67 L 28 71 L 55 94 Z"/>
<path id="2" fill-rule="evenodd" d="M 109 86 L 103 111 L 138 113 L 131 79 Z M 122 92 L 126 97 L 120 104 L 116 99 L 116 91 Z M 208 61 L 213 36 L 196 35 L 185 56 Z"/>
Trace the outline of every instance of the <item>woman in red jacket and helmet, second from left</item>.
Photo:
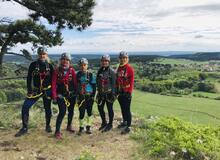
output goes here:
<path id="1" fill-rule="evenodd" d="M 56 120 L 55 137 L 61 139 L 60 127 L 68 108 L 68 122 L 66 130 L 74 133 L 72 119 L 77 94 L 77 81 L 74 68 L 70 65 L 71 55 L 62 53 L 60 65 L 53 72 L 52 98 L 53 103 L 58 104 L 59 114 Z"/>

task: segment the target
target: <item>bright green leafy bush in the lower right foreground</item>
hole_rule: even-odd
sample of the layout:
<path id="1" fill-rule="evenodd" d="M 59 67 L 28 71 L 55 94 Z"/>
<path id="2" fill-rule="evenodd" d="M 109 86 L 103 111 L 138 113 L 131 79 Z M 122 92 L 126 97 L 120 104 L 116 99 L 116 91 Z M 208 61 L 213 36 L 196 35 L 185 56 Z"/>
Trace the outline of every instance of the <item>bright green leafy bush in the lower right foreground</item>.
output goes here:
<path id="1" fill-rule="evenodd" d="M 220 159 L 220 127 L 193 125 L 177 118 L 142 122 L 131 137 L 146 159 Z"/>

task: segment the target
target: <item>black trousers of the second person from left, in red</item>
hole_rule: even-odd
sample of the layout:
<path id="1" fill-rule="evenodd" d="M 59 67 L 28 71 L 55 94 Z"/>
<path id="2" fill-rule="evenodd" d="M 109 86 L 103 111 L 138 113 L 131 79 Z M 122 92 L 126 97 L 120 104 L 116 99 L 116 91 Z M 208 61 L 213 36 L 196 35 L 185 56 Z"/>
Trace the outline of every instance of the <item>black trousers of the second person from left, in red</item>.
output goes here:
<path id="1" fill-rule="evenodd" d="M 70 106 L 67 107 L 64 101 L 64 98 L 58 98 L 57 99 L 57 104 L 59 107 L 59 114 L 57 116 L 57 120 L 56 120 L 56 132 L 60 131 L 60 127 L 63 121 L 63 118 L 66 114 L 66 108 L 68 110 L 68 118 L 67 118 L 67 126 L 71 126 L 72 125 L 72 120 L 73 120 L 73 115 L 74 115 L 74 106 L 76 103 L 76 98 L 69 98 L 67 99 L 70 102 Z"/>

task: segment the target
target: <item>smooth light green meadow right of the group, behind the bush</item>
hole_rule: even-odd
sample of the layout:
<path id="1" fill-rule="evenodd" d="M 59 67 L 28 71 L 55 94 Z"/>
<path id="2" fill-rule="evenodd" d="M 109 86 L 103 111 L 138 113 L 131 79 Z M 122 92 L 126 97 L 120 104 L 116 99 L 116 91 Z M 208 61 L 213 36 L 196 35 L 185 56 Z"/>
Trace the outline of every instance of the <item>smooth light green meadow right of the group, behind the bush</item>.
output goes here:
<path id="1" fill-rule="evenodd" d="M 220 124 L 219 101 L 206 98 L 171 97 L 134 91 L 132 112 L 142 117 L 175 116 L 195 124 Z"/>

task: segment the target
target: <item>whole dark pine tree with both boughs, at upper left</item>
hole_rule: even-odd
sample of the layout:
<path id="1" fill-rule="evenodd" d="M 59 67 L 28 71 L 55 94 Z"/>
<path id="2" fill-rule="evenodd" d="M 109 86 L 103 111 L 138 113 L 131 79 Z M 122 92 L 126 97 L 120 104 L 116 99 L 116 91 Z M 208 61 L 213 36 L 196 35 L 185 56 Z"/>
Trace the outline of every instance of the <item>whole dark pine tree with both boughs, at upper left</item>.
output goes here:
<path id="1" fill-rule="evenodd" d="M 33 43 L 55 46 L 61 45 L 61 29 L 76 28 L 82 31 L 92 24 L 92 9 L 94 0 L 1 0 L 18 3 L 29 10 L 31 19 L 18 20 L 14 23 L 7 18 L 0 20 L 0 71 L 2 70 L 3 56 L 16 54 L 8 50 L 18 43 Z M 37 23 L 40 18 L 45 18 L 49 24 L 56 25 L 56 30 L 47 30 L 46 27 Z M 31 58 L 27 50 L 21 51 L 26 58 Z"/>

